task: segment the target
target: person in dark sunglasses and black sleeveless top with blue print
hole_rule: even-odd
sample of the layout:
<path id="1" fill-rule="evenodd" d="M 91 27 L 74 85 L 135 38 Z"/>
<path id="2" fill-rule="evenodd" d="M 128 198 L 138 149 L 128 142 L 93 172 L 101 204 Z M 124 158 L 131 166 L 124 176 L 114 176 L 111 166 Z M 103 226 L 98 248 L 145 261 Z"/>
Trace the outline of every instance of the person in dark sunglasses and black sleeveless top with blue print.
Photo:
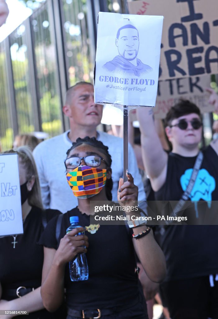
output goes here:
<path id="1" fill-rule="evenodd" d="M 155 199 L 174 201 L 176 205 L 186 191 L 200 151 L 200 110 L 188 100 L 179 100 L 168 111 L 165 132 L 172 143 L 169 154 L 162 149 L 156 134 L 152 109 L 140 108 L 137 113 L 144 166 Z M 188 225 L 158 227 L 156 237 L 167 264 L 160 293 L 172 319 L 218 318 L 218 141 L 202 153 L 202 163 L 188 194 L 188 208 L 181 208 Z M 165 202 L 160 214 L 170 215 L 171 205 L 173 202 Z"/>

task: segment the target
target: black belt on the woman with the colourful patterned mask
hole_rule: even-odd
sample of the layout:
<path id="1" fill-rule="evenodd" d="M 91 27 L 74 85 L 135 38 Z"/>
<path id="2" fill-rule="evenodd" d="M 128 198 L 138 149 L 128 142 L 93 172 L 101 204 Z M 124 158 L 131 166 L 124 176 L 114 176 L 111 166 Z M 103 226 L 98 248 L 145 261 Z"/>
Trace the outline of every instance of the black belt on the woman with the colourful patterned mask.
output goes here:
<path id="1" fill-rule="evenodd" d="M 94 309 L 94 310 L 74 310 L 71 308 L 67 308 L 67 314 L 72 317 L 82 318 L 82 319 L 98 319 L 102 316 L 112 315 L 116 312 L 123 311 L 125 309 L 128 309 L 130 307 L 133 307 L 138 302 L 137 300 L 133 300 L 132 302 L 128 302 L 123 307 L 114 307 L 114 308 L 108 308 L 108 309 Z"/>

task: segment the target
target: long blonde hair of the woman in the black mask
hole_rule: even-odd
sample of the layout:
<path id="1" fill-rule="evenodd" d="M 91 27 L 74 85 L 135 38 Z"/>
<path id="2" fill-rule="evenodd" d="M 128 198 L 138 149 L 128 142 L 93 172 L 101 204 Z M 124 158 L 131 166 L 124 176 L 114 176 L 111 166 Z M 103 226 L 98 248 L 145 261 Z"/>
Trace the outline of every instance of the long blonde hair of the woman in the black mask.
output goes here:
<path id="1" fill-rule="evenodd" d="M 31 191 L 28 193 L 28 203 L 30 206 L 36 206 L 43 209 L 41 190 L 39 185 L 39 176 L 36 168 L 35 160 L 32 156 L 32 151 L 29 146 L 20 146 L 14 150 L 10 150 L 4 153 L 17 153 L 21 163 L 25 167 L 27 181 L 32 176 L 35 177 L 35 182 Z"/>

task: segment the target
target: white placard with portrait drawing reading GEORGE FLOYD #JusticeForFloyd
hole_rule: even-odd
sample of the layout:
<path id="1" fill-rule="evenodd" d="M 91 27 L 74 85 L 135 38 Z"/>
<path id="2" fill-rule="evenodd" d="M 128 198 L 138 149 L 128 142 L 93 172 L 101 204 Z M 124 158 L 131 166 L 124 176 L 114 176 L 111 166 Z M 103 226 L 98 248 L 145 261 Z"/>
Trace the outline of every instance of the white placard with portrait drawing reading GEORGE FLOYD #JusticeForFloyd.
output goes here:
<path id="1" fill-rule="evenodd" d="M 95 103 L 155 106 L 162 16 L 99 12 Z"/>

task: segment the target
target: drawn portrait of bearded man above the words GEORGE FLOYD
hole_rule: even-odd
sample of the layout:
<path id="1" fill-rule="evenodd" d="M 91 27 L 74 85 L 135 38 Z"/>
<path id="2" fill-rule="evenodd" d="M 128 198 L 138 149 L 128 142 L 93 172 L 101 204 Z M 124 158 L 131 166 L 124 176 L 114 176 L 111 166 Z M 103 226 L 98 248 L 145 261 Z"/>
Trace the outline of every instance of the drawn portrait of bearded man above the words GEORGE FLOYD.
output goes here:
<path id="1" fill-rule="evenodd" d="M 141 76 L 153 71 L 151 66 L 137 58 L 139 35 L 135 26 L 128 24 L 118 29 L 115 40 L 118 56 L 105 63 L 103 69 L 123 75 Z"/>

